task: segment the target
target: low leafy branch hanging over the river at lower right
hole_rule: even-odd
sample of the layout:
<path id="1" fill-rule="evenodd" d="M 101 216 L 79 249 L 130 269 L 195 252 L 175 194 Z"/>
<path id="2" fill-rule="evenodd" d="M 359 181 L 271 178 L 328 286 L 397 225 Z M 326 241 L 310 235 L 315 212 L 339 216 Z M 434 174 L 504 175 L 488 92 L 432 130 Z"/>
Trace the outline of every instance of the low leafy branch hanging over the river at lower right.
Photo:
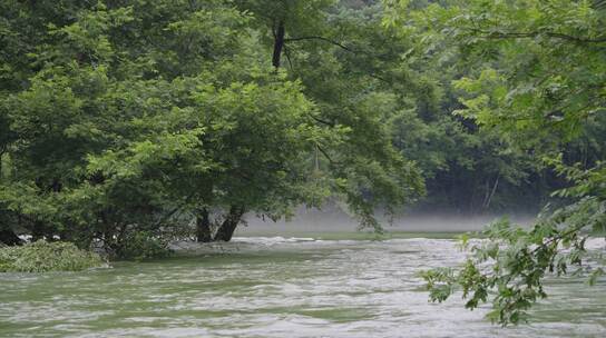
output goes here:
<path id="1" fill-rule="evenodd" d="M 430 299 L 444 301 L 460 287 L 466 308 L 477 308 L 491 298 L 488 318 L 492 321 L 507 325 L 528 320 L 527 310 L 547 297 L 546 277 L 586 276 L 593 285 L 604 275 L 604 261 L 587 251 L 585 241 L 592 229 L 604 231 L 605 208 L 604 200 L 587 197 L 543 216 L 530 229 L 508 220 L 492 223 L 482 231 L 487 241 L 465 243 L 471 256 L 460 269 L 421 274 Z M 497 292 L 489 297 L 492 291 Z"/>

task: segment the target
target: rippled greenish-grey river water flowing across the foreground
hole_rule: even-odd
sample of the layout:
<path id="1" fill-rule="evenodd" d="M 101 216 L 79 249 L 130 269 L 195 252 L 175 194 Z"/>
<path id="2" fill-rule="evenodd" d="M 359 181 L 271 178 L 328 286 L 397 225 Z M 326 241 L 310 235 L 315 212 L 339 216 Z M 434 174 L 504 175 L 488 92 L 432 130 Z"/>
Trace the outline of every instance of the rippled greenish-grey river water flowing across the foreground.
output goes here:
<path id="1" fill-rule="evenodd" d="M 487 309 L 465 310 L 460 297 L 428 302 L 416 272 L 460 262 L 449 239 L 248 237 L 184 247 L 195 255 L 0 274 L 0 336 L 606 337 L 604 280 L 549 282 L 532 322 L 511 328 L 488 322 Z"/>

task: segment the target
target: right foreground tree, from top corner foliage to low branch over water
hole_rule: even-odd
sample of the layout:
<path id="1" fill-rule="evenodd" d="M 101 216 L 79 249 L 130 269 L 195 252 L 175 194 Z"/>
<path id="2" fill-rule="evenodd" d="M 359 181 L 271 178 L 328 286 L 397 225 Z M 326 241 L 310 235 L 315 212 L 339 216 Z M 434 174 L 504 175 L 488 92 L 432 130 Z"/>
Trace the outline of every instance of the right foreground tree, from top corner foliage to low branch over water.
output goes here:
<path id="1" fill-rule="evenodd" d="M 551 272 L 576 266 L 595 281 L 604 270 L 583 265 L 589 255 L 585 240 L 605 230 L 606 171 L 603 158 L 578 162 L 566 143 L 592 139 L 604 149 L 604 139 L 590 131 L 603 130 L 606 106 L 602 1 L 452 1 L 410 12 L 409 1 L 387 2 L 392 10 L 387 24 L 448 37 L 466 62 L 478 64 L 456 82 L 468 93 L 458 115 L 512 148 L 531 150 L 537 162 L 570 180 L 556 192 L 568 203 L 547 209 L 530 229 L 496 222 L 485 231 L 487 242 L 471 246 L 463 267 L 426 271 L 431 299 L 446 300 L 460 286 L 466 307 L 491 298 L 489 317 L 507 325 L 525 320 L 531 305 L 547 296 L 544 279 Z"/>

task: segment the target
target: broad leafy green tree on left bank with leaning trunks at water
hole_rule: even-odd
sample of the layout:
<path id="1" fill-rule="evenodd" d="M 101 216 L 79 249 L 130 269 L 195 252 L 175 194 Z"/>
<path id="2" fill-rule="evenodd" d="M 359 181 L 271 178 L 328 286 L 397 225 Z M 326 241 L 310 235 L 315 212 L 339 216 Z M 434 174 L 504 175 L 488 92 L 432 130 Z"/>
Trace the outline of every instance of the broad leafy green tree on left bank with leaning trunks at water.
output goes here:
<path id="1" fill-rule="evenodd" d="M 124 256 L 138 233 L 168 240 L 195 220 L 198 240 L 229 240 L 245 212 L 287 217 L 331 195 L 379 228 L 377 208 L 422 190 L 379 117 L 322 122 L 307 84 L 276 71 L 256 18 L 231 1 L 0 4 L 14 38 L 2 40 L 0 100 L 10 229 Z M 275 12 L 294 24 L 321 8 Z"/>

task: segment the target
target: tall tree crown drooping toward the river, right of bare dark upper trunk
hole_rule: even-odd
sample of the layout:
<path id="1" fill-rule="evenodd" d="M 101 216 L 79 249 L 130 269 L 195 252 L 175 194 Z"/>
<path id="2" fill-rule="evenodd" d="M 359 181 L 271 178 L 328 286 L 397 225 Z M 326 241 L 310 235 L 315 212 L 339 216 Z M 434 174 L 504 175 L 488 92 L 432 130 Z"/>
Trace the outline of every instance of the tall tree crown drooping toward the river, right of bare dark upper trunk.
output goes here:
<path id="1" fill-rule="evenodd" d="M 289 78 L 300 80 L 305 96 L 316 103 L 317 115 L 312 116 L 315 125 L 344 132 L 339 142 L 316 143 L 311 153 L 316 173 L 325 175 L 331 190 L 344 196 L 362 227 L 382 231 L 373 217 L 375 209 L 393 215 L 394 207 L 421 195 L 423 186 L 416 163 L 397 151 L 385 125 L 394 113 L 385 101 L 393 93 L 388 83 L 381 83 L 384 80 L 379 73 L 390 70 L 380 70 L 378 63 L 383 61 L 375 57 L 381 52 L 385 52 L 385 59 L 398 54 L 388 56 L 383 42 L 389 38 L 380 34 L 379 8 L 352 10 L 335 1 L 238 4 L 252 11 L 255 23 L 266 32 L 264 41 L 274 51 L 273 66 L 284 66 Z M 277 34 L 280 22 L 282 38 Z"/>

